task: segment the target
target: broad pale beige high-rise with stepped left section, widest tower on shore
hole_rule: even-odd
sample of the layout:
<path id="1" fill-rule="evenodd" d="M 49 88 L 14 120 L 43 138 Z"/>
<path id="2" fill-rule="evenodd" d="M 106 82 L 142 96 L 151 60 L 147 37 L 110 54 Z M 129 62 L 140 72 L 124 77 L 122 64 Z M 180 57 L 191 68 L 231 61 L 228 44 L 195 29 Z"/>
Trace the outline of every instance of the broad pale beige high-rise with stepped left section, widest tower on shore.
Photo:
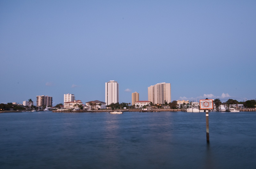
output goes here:
<path id="1" fill-rule="evenodd" d="M 169 103 L 172 100 L 171 83 L 157 83 L 148 87 L 148 101 L 153 104 Z"/>

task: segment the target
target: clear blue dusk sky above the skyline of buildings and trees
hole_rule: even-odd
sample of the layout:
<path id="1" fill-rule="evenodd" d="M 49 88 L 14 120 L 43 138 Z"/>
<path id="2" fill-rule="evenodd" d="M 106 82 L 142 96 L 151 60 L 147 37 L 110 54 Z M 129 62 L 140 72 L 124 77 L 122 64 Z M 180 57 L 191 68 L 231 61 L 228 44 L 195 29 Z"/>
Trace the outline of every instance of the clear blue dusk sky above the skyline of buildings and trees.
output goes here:
<path id="1" fill-rule="evenodd" d="M 256 1 L 0 1 L 0 102 L 256 98 Z"/>

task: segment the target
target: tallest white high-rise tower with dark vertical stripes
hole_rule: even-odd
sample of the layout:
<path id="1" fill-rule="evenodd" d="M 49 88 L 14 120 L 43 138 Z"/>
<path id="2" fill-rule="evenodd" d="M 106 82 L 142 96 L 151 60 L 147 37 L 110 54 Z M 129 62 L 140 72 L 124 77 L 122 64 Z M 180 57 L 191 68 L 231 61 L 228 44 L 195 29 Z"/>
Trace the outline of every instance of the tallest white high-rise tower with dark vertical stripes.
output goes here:
<path id="1" fill-rule="evenodd" d="M 105 102 L 107 105 L 119 102 L 119 86 L 117 81 L 105 83 Z"/>

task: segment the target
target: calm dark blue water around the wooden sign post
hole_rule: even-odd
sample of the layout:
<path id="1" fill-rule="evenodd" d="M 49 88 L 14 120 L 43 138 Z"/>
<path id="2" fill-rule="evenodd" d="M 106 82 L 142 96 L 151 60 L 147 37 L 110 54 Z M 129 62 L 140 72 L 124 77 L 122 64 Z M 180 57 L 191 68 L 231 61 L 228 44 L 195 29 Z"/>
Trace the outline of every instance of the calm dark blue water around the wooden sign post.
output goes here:
<path id="1" fill-rule="evenodd" d="M 256 112 L 0 113 L 0 168 L 256 168 Z"/>

